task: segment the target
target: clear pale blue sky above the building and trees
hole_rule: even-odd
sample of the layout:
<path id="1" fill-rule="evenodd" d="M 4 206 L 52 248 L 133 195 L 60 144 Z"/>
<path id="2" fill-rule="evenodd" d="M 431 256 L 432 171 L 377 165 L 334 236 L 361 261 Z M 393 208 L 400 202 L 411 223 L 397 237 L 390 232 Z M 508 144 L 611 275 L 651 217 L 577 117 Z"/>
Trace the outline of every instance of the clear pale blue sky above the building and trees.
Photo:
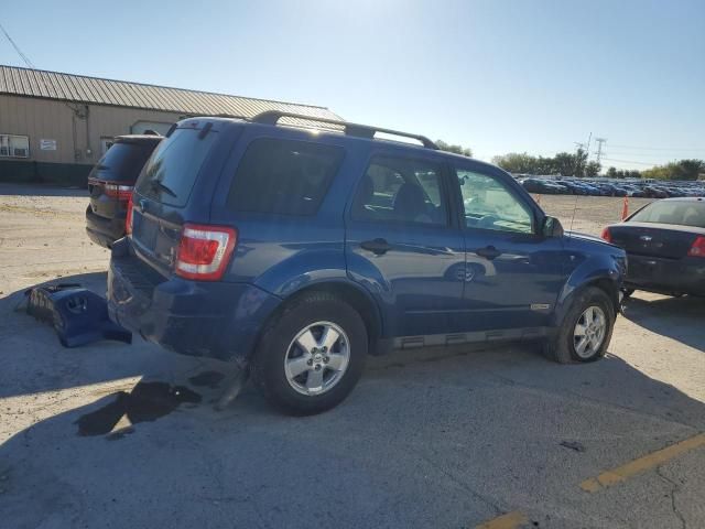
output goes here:
<path id="1" fill-rule="evenodd" d="M 58 7 L 61 6 L 61 8 Z M 325 106 L 475 158 L 705 159 L 705 0 L 32 1 L 40 69 Z M 0 64 L 25 66 L 0 34 Z"/>

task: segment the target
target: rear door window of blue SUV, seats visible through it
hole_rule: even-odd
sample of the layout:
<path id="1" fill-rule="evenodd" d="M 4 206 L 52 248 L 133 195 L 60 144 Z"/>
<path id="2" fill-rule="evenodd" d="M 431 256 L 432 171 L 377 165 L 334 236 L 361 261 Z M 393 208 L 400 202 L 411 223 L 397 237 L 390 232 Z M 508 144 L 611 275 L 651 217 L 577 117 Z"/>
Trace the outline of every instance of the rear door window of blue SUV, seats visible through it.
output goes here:
<path id="1" fill-rule="evenodd" d="M 352 218 L 445 226 L 441 174 L 440 166 L 431 162 L 377 156 L 358 184 Z"/>

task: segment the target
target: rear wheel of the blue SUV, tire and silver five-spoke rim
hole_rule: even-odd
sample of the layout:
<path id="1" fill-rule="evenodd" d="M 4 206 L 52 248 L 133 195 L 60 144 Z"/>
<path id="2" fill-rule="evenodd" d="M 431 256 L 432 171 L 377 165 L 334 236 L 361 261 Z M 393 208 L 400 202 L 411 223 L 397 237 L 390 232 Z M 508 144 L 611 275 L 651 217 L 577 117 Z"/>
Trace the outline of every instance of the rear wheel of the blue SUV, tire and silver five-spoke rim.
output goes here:
<path id="1" fill-rule="evenodd" d="M 333 294 L 314 292 L 292 302 L 268 325 L 250 374 L 274 408 L 310 415 L 336 407 L 348 396 L 362 375 L 367 350 L 360 314 Z"/>

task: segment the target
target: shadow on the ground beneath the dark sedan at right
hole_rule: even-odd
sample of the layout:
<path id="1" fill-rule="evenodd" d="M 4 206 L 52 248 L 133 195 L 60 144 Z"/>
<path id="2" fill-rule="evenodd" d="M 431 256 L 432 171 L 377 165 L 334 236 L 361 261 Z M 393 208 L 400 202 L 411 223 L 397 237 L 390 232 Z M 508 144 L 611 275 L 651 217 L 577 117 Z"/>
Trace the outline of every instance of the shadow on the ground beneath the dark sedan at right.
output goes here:
<path id="1" fill-rule="evenodd" d="M 627 303 L 625 317 L 705 353 L 705 298 L 632 296 Z"/>

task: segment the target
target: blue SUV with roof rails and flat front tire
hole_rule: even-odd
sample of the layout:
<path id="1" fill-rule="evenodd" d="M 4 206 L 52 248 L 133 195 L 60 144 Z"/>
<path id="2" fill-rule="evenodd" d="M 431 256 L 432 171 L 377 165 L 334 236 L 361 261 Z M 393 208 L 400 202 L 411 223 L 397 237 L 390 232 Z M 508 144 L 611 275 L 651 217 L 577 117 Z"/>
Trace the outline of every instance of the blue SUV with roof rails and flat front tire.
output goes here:
<path id="1" fill-rule="evenodd" d="M 595 360 L 626 270 L 623 250 L 564 235 L 496 166 L 276 111 L 175 125 L 137 182 L 129 233 L 112 249 L 111 317 L 249 369 L 299 414 L 339 403 L 367 354 L 391 348 L 540 339 L 560 363 Z"/>

